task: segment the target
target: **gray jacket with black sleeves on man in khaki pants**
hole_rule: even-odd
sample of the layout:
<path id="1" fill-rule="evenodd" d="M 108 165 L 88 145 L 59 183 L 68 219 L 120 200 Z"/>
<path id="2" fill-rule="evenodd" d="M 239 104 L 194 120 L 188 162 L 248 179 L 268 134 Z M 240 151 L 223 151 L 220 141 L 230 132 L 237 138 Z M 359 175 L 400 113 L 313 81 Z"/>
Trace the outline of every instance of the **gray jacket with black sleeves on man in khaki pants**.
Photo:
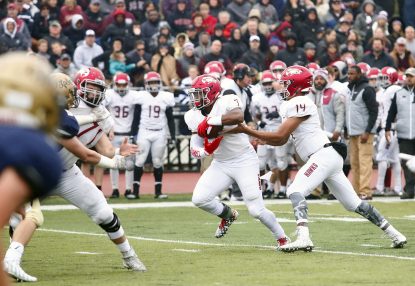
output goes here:
<path id="1" fill-rule="evenodd" d="M 375 89 L 368 85 L 366 78 L 349 84 L 346 96 L 346 127 L 350 136 L 365 132 L 376 133 L 378 103 Z"/>

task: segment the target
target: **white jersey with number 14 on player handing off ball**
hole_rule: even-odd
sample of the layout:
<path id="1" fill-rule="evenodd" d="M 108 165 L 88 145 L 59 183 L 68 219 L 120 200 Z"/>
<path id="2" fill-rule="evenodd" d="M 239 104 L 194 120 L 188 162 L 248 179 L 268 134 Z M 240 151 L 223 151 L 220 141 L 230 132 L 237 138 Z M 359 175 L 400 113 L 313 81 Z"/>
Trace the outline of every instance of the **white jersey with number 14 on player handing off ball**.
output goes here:
<path id="1" fill-rule="evenodd" d="M 282 120 L 290 117 L 309 116 L 301 122 L 291 134 L 295 149 L 304 162 L 309 156 L 330 143 L 327 135 L 321 129 L 317 106 L 306 96 L 296 96 L 281 105 Z"/>

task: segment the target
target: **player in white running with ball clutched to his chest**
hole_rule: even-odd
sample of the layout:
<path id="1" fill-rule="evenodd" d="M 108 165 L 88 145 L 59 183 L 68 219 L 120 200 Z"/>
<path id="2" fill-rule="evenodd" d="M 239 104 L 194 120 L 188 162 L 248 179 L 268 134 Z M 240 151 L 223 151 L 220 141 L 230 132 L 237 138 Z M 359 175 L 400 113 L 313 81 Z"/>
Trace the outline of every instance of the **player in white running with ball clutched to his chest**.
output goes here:
<path id="1" fill-rule="evenodd" d="M 209 74 L 194 79 L 189 95 L 194 108 L 186 112 L 185 121 L 193 132 L 191 154 L 200 159 L 213 153 L 211 165 L 193 191 L 193 204 L 221 218 L 215 237 L 223 237 L 239 214 L 216 196 L 235 182 L 249 213 L 272 232 L 279 246 L 284 245 L 288 238 L 262 199 L 258 156 L 248 136 L 225 135 L 211 142 L 207 138 L 213 128 L 227 130 L 243 122 L 241 99 L 236 94 L 221 95 L 220 82 Z"/>

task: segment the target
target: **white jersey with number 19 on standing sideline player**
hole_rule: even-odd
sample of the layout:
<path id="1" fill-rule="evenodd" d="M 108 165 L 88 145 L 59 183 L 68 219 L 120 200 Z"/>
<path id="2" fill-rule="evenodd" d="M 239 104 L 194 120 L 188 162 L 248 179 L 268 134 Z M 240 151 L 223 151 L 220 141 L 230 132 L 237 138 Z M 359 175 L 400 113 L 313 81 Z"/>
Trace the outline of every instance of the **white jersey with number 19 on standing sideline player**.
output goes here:
<path id="1" fill-rule="evenodd" d="M 134 102 L 141 105 L 140 128 L 148 130 L 164 129 L 167 125 L 166 109 L 175 104 L 173 93 L 167 91 L 159 91 L 156 96 L 148 91 L 139 91 Z"/>

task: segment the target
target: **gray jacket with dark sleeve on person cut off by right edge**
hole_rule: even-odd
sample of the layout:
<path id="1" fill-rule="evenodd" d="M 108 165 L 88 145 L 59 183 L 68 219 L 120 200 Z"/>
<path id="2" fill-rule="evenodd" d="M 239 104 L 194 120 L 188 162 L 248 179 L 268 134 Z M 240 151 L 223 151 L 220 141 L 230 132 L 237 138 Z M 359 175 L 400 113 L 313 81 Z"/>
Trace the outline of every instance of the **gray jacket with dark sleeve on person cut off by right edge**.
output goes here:
<path id="1" fill-rule="evenodd" d="M 391 130 L 395 119 L 398 138 L 415 139 L 415 95 L 413 88 L 409 89 L 405 86 L 393 96 L 386 119 L 386 131 Z"/>

